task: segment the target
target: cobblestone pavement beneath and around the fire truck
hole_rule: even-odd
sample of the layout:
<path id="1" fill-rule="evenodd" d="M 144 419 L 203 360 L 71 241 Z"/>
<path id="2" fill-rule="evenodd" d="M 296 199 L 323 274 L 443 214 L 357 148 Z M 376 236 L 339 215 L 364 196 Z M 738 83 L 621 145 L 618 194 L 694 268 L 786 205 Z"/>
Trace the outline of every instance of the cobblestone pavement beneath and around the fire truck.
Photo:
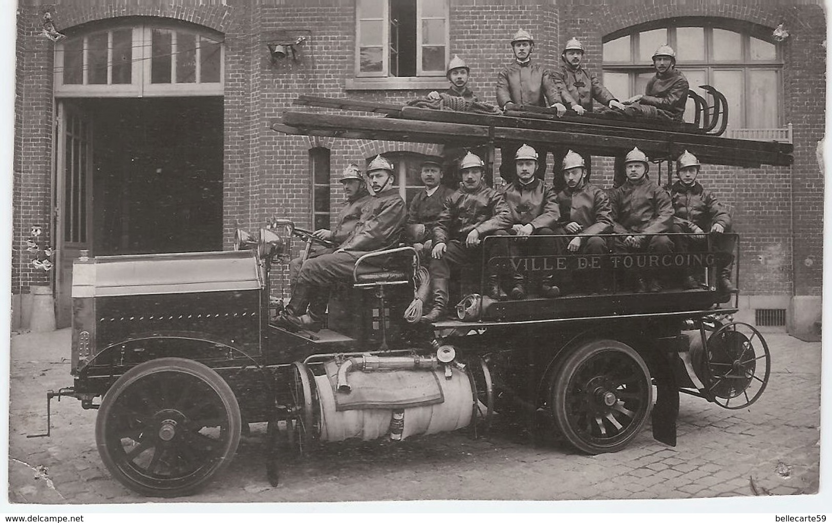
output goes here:
<path id="1" fill-rule="evenodd" d="M 230 468 L 180 501 L 599 500 L 816 493 L 820 460 L 820 343 L 766 335 L 769 386 L 754 406 L 727 411 L 681 397 L 676 447 L 647 426 L 616 454 L 583 456 L 563 444 L 535 446 L 509 431 L 472 440 L 465 431 L 399 444 L 344 442 L 287 464 L 265 479 L 262 435 L 240 443 Z M 95 446 L 95 411 L 44 391 L 72 384 L 69 331 L 12 338 L 9 499 L 27 503 L 146 502 L 113 480 Z M 495 420 L 496 421 L 496 420 Z M 498 422 L 498 421 L 497 421 Z M 158 500 L 161 501 L 161 500 Z"/>

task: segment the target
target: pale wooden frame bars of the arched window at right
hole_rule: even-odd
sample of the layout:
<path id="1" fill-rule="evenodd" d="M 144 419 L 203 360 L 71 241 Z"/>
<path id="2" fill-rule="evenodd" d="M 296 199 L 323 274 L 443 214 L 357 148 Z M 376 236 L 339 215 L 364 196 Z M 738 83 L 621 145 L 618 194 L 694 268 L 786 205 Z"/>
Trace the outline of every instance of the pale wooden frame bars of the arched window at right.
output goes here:
<path id="1" fill-rule="evenodd" d="M 772 42 L 770 35 L 765 34 L 762 32 L 760 27 L 755 26 L 754 24 L 749 23 L 738 23 L 738 24 L 731 24 L 721 21 L 714 21 L 705 18 L 697 18 L 691 17 L 687 19 L 681 19 L 677 23 L 671 25 L 673 20 L 661 20 L 656 22 L 650 22 L 648 24 L 641 24 L 639 26 L 634 27 L 627 27 L 621 31 L 613 32 L 607 37 L 603 38 L 603 43 L 607 44 L 608 42 L 613 42 L 621 37 L 630 37 L 630 61 L 622 62 L 607 62 L 602 61 L 602 71 L 603 72 L 617 72 L 622 73 L 626 72 L 629 76 L 629 93 L 636 93 L 636 77 L 645 72 L 654 72 L 654 69 L 650 63 L 641 62 L 638 58 L 639 52 L 639 45 L 640 45 L 640 37 L 642 32 L 651 31 L 654 29 L 666 29 L 667 31 L 667 43 L 677 49 L 677 40 L 676 40 L 676 29 L 679 27 L 701 27 L 703 30 L 703 37 L 705 42 L 705 52 L 704 52 L 704 59 L 703 60 L 685 60 L 684 62 L 677 63 L 677 68 L 681 72 L 685 72 L 686 70 L 696 70 L 696 71 L 705 71 L 706 82 L 710 82 L 713 84 L 714 82 L 714 73 L 717 71 L 741 71 L 742 78 L 743 78 L 743 85 L 741 90 L 743 92 L 743 99 L 740 103 L 741 107 L 741 117 L 740 122 L 742 125 L 740 127 L 735 127 L 732 130 L 738 129 L 748 129 L 754 127 L 748 127 L 749 125 L 749 114 L 753 110 L 750 106 L 752 102 L 750 97 L 750 71 L 760 70 L 760 71 L 773 71 L 775 72 L 775 84 L 777 85 L 778 91 L 776 93 L 776 97 L 778 99 L 778 107 L 776 111 L 776 127 L 780 128 L 784 126 L 785 121 L 785 104 L 783 100 L 783 67 L 785 65 L 785 60 L 783 58 L 783 49 L 781 46 L 776 45 L 775 42 Z M 713 32 L 714 29 L 722 29 L 730 32 L 734 32 L 740 35 L 740 42 L 742 46 L 742 53 L 740 60 L 720 60 L 717 61 L 714 57 L 714 36 Z M 757 38 L 758 40 L 762 40 L 764 42 L 768 42 L 775 46 L 775 58 L 768 59 L 768 60 L 752 60 L 751 59 L 751 38 Z M 692 86 L 692 88 L 696 88 L 698 86 Z M 629 94 L 628 93 L 628 94 Z M 629 96 L 632 96 L 629 94 Z M 766 127 L 768 128 L 768 127 Z"/>

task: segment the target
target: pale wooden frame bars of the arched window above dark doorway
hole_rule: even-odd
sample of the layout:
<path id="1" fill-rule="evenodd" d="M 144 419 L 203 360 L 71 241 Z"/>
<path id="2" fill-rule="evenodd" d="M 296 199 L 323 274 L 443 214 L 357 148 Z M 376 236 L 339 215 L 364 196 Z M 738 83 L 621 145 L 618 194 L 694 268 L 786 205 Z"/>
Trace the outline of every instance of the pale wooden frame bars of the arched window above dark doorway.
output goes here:
<path id="1" fill-rule="evenodd" d="M 131 29 L 131 82 L 112 82 L 112 41 L 113 32 Z M 151 83 L 152 33 L 154 29 L 171 31 L 171 82 Z M 88 82 L 89 37 L 107 33 L 107 83 L 90 84 Z M 195 35 L 195 77 L 194 82 L 176 83 L 176 41 L 177 32 Z M 212 32 L 205 27 L 196 27 L 177 22 L 121 22 L 106 26 L 91 27 L 88 31 L 72 35 L 70 38 L 82 38 L 82 83 L 63 83 L 64 48 L 67 41 L 55 45 L 54 60 L 54 95 L 56 97 L 169 97 L 169 96 L 222 96 L 225 92 L 225 42 L 219 32 Z M 201 48 L 203 38 L 207 38 L 220 49 L 219 82 L 201 82 Z"/>

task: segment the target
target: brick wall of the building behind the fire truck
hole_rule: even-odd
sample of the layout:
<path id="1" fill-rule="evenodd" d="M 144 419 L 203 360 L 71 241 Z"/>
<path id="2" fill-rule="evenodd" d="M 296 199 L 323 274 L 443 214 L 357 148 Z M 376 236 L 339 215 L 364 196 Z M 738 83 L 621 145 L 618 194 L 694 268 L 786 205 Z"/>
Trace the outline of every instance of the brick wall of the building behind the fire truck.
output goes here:
<path id="1" fill-rule="evenodd" d="M 15 292 L 48 278 L 34 271 L 28 253 L 19 248 L 28 227 L 35 222 L 47 227 L 50 221 L 52 42 L 37 36 L 41 13 L 47 7 L 62 30 L 82 30 L 86 22 L 136 15 L 200 23 L 225 34 L 226 248 L 236 227 L 254 229 L 278 214 L 310 225 L 310 147 L 331 150 L 332 202 L 340 201 L 337 180 L 347 162 L 383 150 L 413 150 L 412 144 L 292 137 L 269 128 L 299 94 L 404 102 L 427 92 L 344 88 L 354 67 L 355 13 L 350 0 L 62 0 L 51 7 L 40 4 L 22 2 L 17 21 Z M 795 165 L 785 169 L 704 166 L 701 180 L 735 207 L 735 222 L 744 234 L 746 292 L 790 294 L 794 286 L 798 294 L 819 294 L 823 178 L 815 146 L 823 136 L 825 121 L 825 48 L 820 45 L 825 17 L 817 2 L 451 0 L 450 52 L 468 62 L 470 85 L 478 96 L 493 102 L 494 78 L 512 58 L 508 40 L 519 27 L 536 37 L 535 57 L 547 66 L 557 65 L 562 45 L 577 36 L 587 49 L 587 65 L 600 71 L 605 35 L 679 16 L 730 17 L 766 27 L 785 21 L 790 29 L 792 37 L 782 44 L 784 104 L 785 122 L 795 126 Z M 302 60 L 290 66 L 273 64 L 265 43 L 286 32 L 310 37 Z M 608 185 L 610 162 L 597 158 L 593 166 L 593 180 Z M 45 232 L 50 237 L 48 227 Z"/>

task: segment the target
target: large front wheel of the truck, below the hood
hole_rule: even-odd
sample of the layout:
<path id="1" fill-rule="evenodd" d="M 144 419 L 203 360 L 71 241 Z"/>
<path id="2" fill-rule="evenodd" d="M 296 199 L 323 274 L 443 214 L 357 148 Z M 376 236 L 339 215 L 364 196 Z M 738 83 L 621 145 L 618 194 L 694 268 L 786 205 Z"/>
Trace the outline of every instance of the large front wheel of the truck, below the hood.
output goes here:
<path id="1" fill-rule="evenodd" d="M 240 406 L 215 371 L 160 358 L 126 371 L 96 419 L 110 473 L 144 496 L 188 496 L 225 469 L 240 443 Z"/>

